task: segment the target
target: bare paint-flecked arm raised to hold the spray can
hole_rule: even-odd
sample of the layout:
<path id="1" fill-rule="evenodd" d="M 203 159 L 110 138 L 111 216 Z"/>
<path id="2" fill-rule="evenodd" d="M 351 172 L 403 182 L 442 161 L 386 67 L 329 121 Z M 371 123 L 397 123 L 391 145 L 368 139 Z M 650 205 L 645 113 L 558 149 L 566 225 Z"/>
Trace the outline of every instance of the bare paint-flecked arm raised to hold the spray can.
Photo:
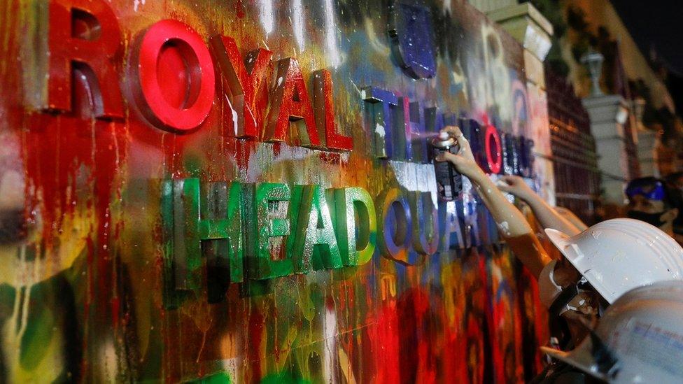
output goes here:
<path id="1" fill-rule="evenodd" d="M 512 252 L 534 276 L 538 276 L 543 267 L 550 262 L 550 258 L 543 250 L 524 215 L 507 201 L 505 196 L 495 187 L 491 178 L 488 178 L 486 173 L 479 168 L 477 162 L 474 161 L 470 143 L 460 129 L 458 127 L 446 127 L 444 131 L 457 138 L 460 151 L 457 155 L 444 152 L 437 157 L 437 161 L 451 162 L 458 172 L 472 181 Z"/>

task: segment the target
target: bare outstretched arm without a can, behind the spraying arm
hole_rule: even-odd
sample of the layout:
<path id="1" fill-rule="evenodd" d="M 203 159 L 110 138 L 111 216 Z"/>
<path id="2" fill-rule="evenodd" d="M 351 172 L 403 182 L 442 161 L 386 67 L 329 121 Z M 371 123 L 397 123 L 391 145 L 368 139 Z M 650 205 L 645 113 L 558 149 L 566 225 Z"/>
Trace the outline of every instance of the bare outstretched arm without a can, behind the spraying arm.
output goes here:
<path id="1" fill-rule="evenodd" d="M 519 176 L 502 176 L 500 180 L 504 183 L 498 183 L 498 188 L 504 192 L 512 193 L 526 202 L 544 229 L 557 229 L 569 236 L 574 236 L 581 232 L 581 230 L 573 225 L 570 220 L 564 218 L 563 215 L 558 213 L 558 211 L 555 211 L 555 209 L 536 194 L 536 192 L 533 192 L 533 190 L 524 183 L 523 178 Z"/>

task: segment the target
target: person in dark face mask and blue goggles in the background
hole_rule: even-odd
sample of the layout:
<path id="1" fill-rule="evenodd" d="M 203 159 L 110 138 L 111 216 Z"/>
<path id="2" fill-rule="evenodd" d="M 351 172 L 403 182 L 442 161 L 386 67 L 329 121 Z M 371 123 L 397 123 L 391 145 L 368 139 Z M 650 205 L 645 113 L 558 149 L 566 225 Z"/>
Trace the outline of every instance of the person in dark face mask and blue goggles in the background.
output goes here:
<path id="1" fill-rule="evenodd" d="M 662 180 L 654 177 L 636 178 L 626 186 L 628 218 L 642 220 L 673 236 L 673 222 L 678 209 L 673 207 Z"/>

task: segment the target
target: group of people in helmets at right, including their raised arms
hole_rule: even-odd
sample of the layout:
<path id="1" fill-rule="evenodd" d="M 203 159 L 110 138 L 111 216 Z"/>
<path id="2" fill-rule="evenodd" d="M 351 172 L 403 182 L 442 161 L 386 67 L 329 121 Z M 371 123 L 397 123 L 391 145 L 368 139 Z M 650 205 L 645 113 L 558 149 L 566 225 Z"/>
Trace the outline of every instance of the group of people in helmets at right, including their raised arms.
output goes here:
<path id="1" fill-rule="evenodd" d="M 550 206 L 522 178 L 494 183 L 458 127 L 451 162 L 470 179 L 514 255 L 536 276 L 554 358 L 534 383 L 683 382 L 683 173 L 626 187 L 626 218 L 587 226 Z M 560 257 L 543 248 L 502 192 L 528 204 Z"/>

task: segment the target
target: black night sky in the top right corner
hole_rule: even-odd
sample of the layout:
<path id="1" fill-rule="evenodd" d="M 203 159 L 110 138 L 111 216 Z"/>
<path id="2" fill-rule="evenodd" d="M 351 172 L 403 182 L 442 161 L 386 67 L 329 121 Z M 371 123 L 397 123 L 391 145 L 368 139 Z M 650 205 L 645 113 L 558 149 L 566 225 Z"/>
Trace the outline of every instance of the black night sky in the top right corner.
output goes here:
<path id="1" fill-rule="evenodd" d="M 642 53 L 654 48 L 669 71 L 677 113 L 683 113 L 683 0 L 613 0 Z"/>

